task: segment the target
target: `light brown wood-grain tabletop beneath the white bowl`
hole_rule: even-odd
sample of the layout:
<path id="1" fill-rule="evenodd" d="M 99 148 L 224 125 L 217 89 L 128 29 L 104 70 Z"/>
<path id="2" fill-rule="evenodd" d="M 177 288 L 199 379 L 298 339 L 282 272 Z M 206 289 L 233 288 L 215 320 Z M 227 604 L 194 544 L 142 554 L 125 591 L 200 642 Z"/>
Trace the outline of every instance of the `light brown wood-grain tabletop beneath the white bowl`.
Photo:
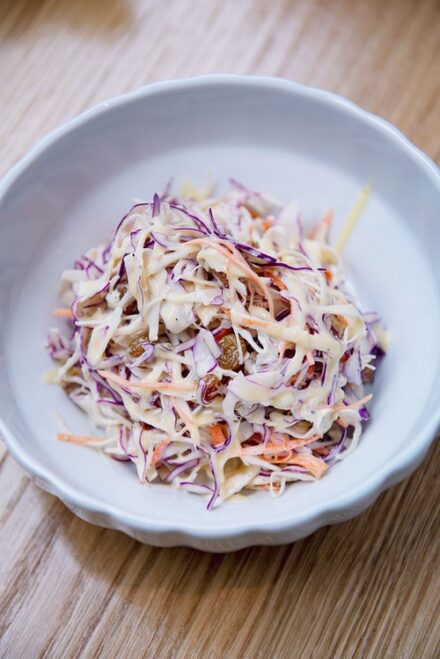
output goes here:
<path id="1" fill-rule="evenodd" d="M 225 71 L 339 92 L 440 156 L 435 0 L 3 0 L 0 71 L 0 175 L 97 101 Z M 357 519 L 230 555 L 95 528 L 0 455 L 2 657 L 439 656 L 438 448 Z"/>

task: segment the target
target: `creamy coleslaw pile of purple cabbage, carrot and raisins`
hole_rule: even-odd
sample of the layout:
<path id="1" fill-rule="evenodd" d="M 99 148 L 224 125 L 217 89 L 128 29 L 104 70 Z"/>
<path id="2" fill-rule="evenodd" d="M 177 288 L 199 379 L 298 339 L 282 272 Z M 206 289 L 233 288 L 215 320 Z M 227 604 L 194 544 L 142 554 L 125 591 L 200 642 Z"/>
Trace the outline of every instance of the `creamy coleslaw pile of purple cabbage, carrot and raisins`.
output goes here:
<path id="1" fill-rule="evenodd" d="M 221 198 L 136 203 L 62 275 L 52 379 L 105 436 L 58 439 L 206 495 L 208 509 L 320 478 L 356 447 L 383 354 L 331 221 L 306 235 L 295 204 L 235 181 Z"/>

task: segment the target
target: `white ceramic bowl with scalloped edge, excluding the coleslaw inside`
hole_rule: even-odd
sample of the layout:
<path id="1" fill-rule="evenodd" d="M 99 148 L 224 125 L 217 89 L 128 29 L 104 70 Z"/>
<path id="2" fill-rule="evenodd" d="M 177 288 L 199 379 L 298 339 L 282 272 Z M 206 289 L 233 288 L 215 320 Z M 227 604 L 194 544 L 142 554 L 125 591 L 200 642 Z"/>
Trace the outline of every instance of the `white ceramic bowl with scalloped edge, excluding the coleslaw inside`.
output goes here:
<path id="1" fill-rule="evenodd" d="M 133 197 L 170 176 L 233 176 L 328 207 L 340 224 L 365 182 L 373 196 L 346 262 L 392 344 L 359 448 L 321 481 L 279 499 L 254 493 L 207 512 L 195 495 L 142 486 L 134 469 L 55 440 L 56 410 L 90 430 L 61 390 L 42 384 L 61 271 L 104 239 Z M 155 545 L 228 551 L 278 544 L 348 519 L 420 463 L 439 421 L 440 177 L 395 128 L 345 99 L 284 80 L 208 76 L 113 99 L 61 127 L 0 187 L 0 430 L 45 490 L 80 517 Z"/>

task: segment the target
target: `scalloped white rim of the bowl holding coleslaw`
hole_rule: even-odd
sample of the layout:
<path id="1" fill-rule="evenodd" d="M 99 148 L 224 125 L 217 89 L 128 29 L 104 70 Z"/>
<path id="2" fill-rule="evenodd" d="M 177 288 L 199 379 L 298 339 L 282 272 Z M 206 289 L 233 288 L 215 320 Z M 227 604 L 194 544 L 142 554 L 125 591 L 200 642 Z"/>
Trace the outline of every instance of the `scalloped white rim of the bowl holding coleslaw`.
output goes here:
<path id="1" fill-rule="evenodd" d="M 385 119 L 363 110 L 352 101 L 333 92 L 315 89 L 290 80 L 272 76 L 250 76 L 235 74 L 210 74 L 165 80 L 144 85 L 131 92 L 115 96 L 109 100 L 94 105 L 92 108 L 82 112 L 77 117 L 62 124 L 41 139 L 21 160 L 19 160 L 0 181 L 0 204 L 18 177 L 52 144 L 73 132 L 90 119 L 105 114 L 114 108 L 128 105 L 140 98 L 162 94 L 167 91 L 197 90 L 209 86 L 239 86 L 251 89 L 277 90 L 290 92 L 293 95 L 309 98 L 322 103 L 327 107 L 339 108 L 342 112 L 351 115 L 356 120 L 376 129 L 382 136 L 391 139 L 400 148 L 406 157 L 411 158 L 420 167 L 440 194 L 440 171 L 435 163 L 425 155 L 418 147 L 406 138 L 403 133 L 395 128 Z M 437 381 L 440 369 L 437 365 Z M 219 528 L 207 528 L 197 523 L 171 523 L 165 519 L 153 521 L 148 517 L 129 513 L 118 507 L 108 504 L 104 500 L 78 491 L 75 487 L 66 484 L 52 470 L 46 468 L 38 459 L 29 456 L 25 448 L 15 437 L 5 419 L 0 418 L 0 434 L 6 446 L 15 460 L 36 480 L 37 484 L 49 492 L 57 495 L 75 512 L 87 511 L 88 517 L 94 514 L 104 516 L 105 524 L 130 533 L 144 532 L 152 538 L 163 534 L 178 534 L 180 539 L 193 537 L 200 540 L 227 540 L 249 536 L 249 534 L 270 533 L 281 536 L 288 534 L 294 528 L 308 526 L 315 530 L 321 524 L 335 521 L 333 518 L 340 517 L 348 508 L 355 509 L 362 502 L 371 503 L 386 487 L 401 480 L 407 473 L 412 471 L 411 467 L 417 465 L 434 440 L 435 433 L 440 425 L 440 406 L 434 408 L 432 413 L 425 419 L 419 428 L 414 441 L 409 444 L 398 455 L 393 456 L 382 464 L 377 472 L 357 486 L 347 490 L 337 499 L 332 499 L 316 508 L 313 513 L 295 512 L 295 518 L 283 517 L 274 521 L 262 521 L 252 523 L 228 523 Z M 353 513 L 354 514 L 354 513 Z M 301 535 L 305 535 L 302 533 Z M 282 540 L 280 540 L 282 542 Z M 245 543 L 247 544 L 247 543 Z"/>

